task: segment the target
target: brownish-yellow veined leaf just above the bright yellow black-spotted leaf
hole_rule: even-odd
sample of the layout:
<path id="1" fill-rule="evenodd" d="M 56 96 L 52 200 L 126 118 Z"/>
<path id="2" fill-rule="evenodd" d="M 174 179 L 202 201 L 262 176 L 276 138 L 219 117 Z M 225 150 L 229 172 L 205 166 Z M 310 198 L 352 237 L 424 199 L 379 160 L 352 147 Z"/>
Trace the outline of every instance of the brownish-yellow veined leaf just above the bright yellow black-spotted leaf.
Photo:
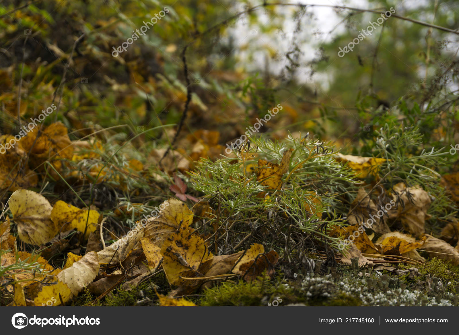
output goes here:
<path id="1" fill-rule="evenodd" d="M 193 212 L 181 201 L 169 199 L 163 202 L 166 207 L 161 210 L 159 216 L 148 219 L 145 226 L 145 238 L 150 238 L 153 243 L 161 247 L 165 238 L 177 229 L 189 232 L 189 226 L 193 222 Z"/>

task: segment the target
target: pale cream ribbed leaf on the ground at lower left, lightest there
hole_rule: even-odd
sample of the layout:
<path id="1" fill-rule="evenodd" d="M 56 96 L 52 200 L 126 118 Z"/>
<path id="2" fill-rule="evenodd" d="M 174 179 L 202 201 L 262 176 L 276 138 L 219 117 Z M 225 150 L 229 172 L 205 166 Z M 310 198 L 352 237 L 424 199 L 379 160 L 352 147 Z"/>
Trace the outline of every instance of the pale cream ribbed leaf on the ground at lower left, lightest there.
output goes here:
<path id="1" fill-rule="evenodd" d="M 92 283 L 99 272 L 99 268 L 99 257 L 95 251 L 91 251 L 73 263 L 71 267 L 62 270 L 57 278 L 62 283 L 67 284 L 73 295 L 78 295 L 81 290 Z"/>

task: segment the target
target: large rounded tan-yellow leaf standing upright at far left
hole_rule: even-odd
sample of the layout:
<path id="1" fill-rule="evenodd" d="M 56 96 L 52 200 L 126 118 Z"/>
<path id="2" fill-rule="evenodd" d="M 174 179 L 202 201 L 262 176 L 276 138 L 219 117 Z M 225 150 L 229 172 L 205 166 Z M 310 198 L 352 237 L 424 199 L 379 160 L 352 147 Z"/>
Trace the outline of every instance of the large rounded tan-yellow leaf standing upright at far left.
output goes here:
<path id="1" fill-rule="evenodd" d="M 9 200 L 19 238 L 29 244 L 45 244 L 59 231 L 51 218 L 52 207 L 41 194 L 29 190 L 15 191 Z"/>

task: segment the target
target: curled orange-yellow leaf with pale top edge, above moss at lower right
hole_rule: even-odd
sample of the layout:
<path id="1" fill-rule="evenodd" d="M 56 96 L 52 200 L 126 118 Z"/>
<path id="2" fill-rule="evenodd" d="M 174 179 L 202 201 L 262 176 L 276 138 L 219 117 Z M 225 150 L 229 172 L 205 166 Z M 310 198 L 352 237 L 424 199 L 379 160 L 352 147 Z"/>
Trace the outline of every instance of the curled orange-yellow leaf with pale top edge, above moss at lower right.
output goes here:
<path id="1" fill-rule="evenodd" d="M 399 232 L 391 232 L 382 235 L 376 241 L 376 245 L 381 245 L 384 255 L 402 255 L 410 250 L 419 249 L 425 243 L 425 236 L 419 241 L 414 237 Z"/>

